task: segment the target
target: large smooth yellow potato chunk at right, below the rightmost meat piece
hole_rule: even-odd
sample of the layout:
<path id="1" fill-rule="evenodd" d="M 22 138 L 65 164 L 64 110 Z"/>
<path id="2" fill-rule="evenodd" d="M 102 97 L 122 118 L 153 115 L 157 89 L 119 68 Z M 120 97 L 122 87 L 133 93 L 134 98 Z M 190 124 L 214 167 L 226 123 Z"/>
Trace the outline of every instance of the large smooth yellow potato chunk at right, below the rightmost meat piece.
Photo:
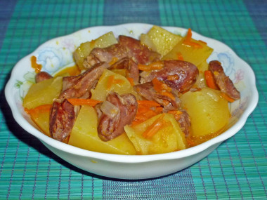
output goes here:
<path id="1" fill-rule="evenodd" d="M 202 88 L 187 92 L 181 96 L 181 102 L 191 118 L 193 137 L 216 133 L 228 124 L 228 102 L 221 97 L 220 91 Z"/>

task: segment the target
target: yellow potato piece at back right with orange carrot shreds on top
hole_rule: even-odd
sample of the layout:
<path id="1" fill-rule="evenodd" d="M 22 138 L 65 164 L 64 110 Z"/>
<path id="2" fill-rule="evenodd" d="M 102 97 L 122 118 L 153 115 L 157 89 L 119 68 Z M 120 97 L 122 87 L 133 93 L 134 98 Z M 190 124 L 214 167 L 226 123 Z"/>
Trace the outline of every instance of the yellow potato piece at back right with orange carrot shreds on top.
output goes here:
<path id="1" fill-rule="evenodd" d="M 184 44 L 183 41 L 185 38 L 181 39 L 174 48 L 172 48 L 167 55 L 165 55 L 162 60 L 177 60 L 178 55 L 182 55 L 183 60 L 193 63 L 195 66 L 202 64 L 202 62 L 206 61 L 211 55 L 213 49 L 204 44 L 202 41 L 197 41 L 195 39 L 191 39 L 191 41 L 196 44 L 200 44 L 202 48 L 195 48 L 194 46 L 188 46 Z"/>

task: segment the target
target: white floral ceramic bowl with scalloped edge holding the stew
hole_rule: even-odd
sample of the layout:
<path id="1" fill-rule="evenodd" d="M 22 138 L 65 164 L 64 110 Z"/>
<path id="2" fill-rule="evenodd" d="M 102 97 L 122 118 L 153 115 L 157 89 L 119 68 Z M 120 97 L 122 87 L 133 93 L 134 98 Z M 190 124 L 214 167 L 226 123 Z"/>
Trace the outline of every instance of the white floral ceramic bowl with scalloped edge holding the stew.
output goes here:
<path id="1" fill-rule="evenodd" d="M 193 32 L 194 39 L 206 41 L 214 48 L 209 60 L 219 60 L 230 79 L 241 93 L 241 100 L 230 106 L 232 119 L 228 130 L 207 142 L 189 149 L 167 154 L 129 156 L 91 152 L 53 140 L 39 131 L 30 117 L 24 112 L 21 97 L 27 93 L 32 84 L 34 69 L 30 57 L 35 55 L 42 70 L 53 74 L 66 65 L 73 65 L 72 52 L 84 41 L 91 41 L 106 32 L 115 36 L 124 34 L 138 38 L 152 27 L 147 24 L 125 24 L 110 27 L 89 27 L 67 36 L 51 39 L 37 48 L 36 51 L 22 58 L 13 68 L 11 78 L 6 85 L 5 94 L 15 121 L 28 133 L 39 138 L 52 152 L 70 164 L 85 171 L 110 178 L 144 179 L 167 175 L 195 164 L 211 153 L 221 142 L 227 140 L 244 126 L 247 117 L 252 113 L 259 99 L 252 68 L 241 60 L 228 46 L 214 39 Z M 175 34 L 185 35 L 187 29 L 164 27 Z"/>

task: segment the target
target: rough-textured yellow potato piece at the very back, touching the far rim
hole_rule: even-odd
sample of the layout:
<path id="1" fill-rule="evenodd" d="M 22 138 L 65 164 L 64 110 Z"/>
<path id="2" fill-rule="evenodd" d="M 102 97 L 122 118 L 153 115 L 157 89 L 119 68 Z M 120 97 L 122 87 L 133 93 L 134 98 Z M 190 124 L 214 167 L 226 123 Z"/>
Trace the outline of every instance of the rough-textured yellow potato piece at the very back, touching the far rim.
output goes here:
<path id="1" fill-rule="evenodd" d="M 147 35 L 154 46 L 150 44 L 150 41 L 146 36 L 141 37 L 141 43 L 147 45 L 152 50 L 156 49 L 157 53 L 160 53 L 162 56 L 171 51 L 171 49 L 182 39 L 182 36 L 168 32 L 166 29 L 162 29 L 162 27 L 158 26 L 153 26 Z"/>

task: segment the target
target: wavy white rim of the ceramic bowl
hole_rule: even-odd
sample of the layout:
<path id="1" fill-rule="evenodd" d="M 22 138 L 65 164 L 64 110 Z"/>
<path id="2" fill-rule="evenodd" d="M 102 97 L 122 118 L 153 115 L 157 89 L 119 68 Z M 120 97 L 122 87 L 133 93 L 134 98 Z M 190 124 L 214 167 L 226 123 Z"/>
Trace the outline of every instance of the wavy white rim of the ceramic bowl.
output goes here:
<path id="1" fill-rule="evenodd" d="M 109 25 L 109 26 L 94 26 L 94 27 L 87 27 L 84 29 L 79 29 L 77 32 L 83 32 L 86 29 L 109 29 L 111 27 L 133 27 L 133 26 L 148 26 L 152 27 L 153 25 L 145 24 L 145 23 L 126 23 L 121 25 Z M 179 28 L 183 31 L 186 29 L 183 27 L 171 27 L 171 26 L 160 26 L 165 29 L 173 29 L 173 28 Z M 20 66 L 20 63 L 29 58 L 31 55 L 36 53 L 42 46 L 47 44 L 50 41 L 53 41 L 55 39 L 60 39 L 66 36 L 71 36 L 72 34 L 75 34 L 77 32 L 73 32 L 71 34 L 67 34 L 65 36 L 58 36 L 53 39 L 49 39 L 48 41 L 45 41 L 43 44 L 39 45 L 38 48 L 36 48 L 32 53 L 26 55 L 24 58 L 21 58 L 13 67 L 11 72 L 11 77 L 8 80 L 8 83 L 5 87 L 5 96 L 6 100 L 8 102 L 8 105 L 11 107 L 11 112 L 13 114 L 13 117 L 15 121 L 28 133 L 34 135 L 37 137 L 41 142 L 45 142 L 47 145 L 54 147 L 56 149 L 59 149 L 63 152 L 67 152 L 70 154 L 78 155 L 78 156 L 86 156 L 90 157 L 91 159 L 100 159 L 105 161 L 112 161 L 117 163 L 144 163 L 144 162 L 150 162 L 150 161 L 159 161 L 159 160 L 169 160 L 169 159 L 181 159 L 187 156 L 191 156 L 193 154 L 198 154 L 205 149 L 208 149 L 209 147 L 219 144 L 228 138 L 235 135 L 240 129 L 245 125 L 247 118 L 249 115 L 254 111 L 256 108 L 256 105 L 259 101 L 259 93 L 256 88 L 256 76 L 252 70 L 252 67 L 250 67 L 247 62 L 242 60 L 229 46 L 226 44 L 223 44 L 221 41 L 218 41 L 216 39 L 211 39 L 207 36 L 203 36 L 202 34 L 198 34 L 197 32 L 193 32 L 193 34 L 201 36 L 204 39 L 209 39 L 210 41 L 216 41 L 216 43 L 219 43 L 223 46 L 226 46 L 226 48 L 229 48 L 231 51 L 233 51 L 233 55 L 242 62 L 242 65 L 244 65 L 247 70 L 249 70 L 249 81 L 252 88 L 251 93 L 251 99 L 248 102 L 247 108 L 244 110 L 244 112 L 241 114 L 240 118 L 231 126 L 228 128 L 227 131 L 221 133 L 220 135 L 216 136 L 215 138 L 212 138 L 211 140 L 208 140 L 207 142 L 203 142 L 200 145 L 197 145 L 195 147 L 190 147 L 188 149 L 183 149 L 178 152 L 169 152 L 164 154 L 152 154 L 152 155 L 124 155 L 124 154 L 108 154 L 108 153 L 101 153 L 101 152 L 93 152 L 86 149 L 81 149 L 79 147 L 74 147 L 72 145 L 65 144 L 63 142 L 59 142 L 58 140 L 54 140 L 53 138 L 48 137 L 44 133 L 41 133 L 41 131 L 37 130 L 37 128 L 34 128 L 18 111 L 18 106 L 15 103 L 15 98 L 11 95 L 11 90 L 13 89 L 13 79 L 15 79 L 15 70 Z"/>

